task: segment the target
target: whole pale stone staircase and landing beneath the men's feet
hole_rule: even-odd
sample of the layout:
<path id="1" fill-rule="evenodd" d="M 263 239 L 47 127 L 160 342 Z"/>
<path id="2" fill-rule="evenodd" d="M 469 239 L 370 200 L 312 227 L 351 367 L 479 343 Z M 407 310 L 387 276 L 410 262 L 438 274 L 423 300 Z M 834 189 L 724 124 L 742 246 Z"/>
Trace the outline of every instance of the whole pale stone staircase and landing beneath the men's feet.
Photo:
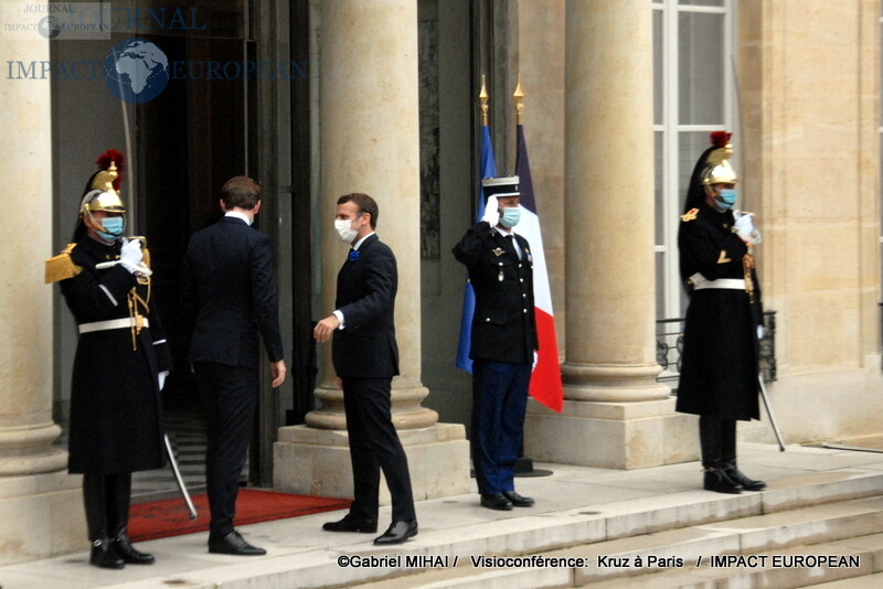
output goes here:
<path id="1" fill-rule="evenodd" d="M 419 535 L 397 547 L 375 547 L 369 534 L 322 532 L 338 512 L 243 526 L 246 539 L 267 548 L 264 557 L 206 554 L 206 535 L 192 534 L 139 544 L 157 555 L 151 567 L 96 569 L 82 551 L 0 567 L 0 586 L 883 587 L 883 456 L 751 443 L 741 453 L 746 472 L 768 489 L 702 491 L 698 463 L 634 471 L 546 464 L 550 476 L 518 483 L 535 507 L 493 512 L 476 494 L 421 501 Z M 389 517 L 381 508 L 381 522 Z"/>

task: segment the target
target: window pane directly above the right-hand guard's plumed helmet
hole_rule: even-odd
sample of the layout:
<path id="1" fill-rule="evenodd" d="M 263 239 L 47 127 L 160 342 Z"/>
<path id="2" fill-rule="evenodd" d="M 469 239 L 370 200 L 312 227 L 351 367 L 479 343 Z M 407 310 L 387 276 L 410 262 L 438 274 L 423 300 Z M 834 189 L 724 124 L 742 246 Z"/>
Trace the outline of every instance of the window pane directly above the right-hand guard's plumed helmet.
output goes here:
<path id="1" fill-rule="evenodd" d="M 680 124 L 720 125 L 726 72 L 723 15 L 683 12 L 678 26 Z"/>

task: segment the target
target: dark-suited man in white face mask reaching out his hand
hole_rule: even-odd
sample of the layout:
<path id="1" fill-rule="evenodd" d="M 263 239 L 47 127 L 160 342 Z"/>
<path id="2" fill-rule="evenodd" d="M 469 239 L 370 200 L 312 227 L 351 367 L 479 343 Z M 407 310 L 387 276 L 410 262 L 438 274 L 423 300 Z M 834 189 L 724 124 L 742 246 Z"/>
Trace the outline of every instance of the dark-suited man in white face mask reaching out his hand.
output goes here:
<path id="1" fill-rule="evenodd" d="M 395 256 L 374 228 L 377 203 L 368 194 L 338 199 L 334 228 L 352 249 L 338 274 L 337 310 L 316 325 L 318 342 L 333 338 L 334 372 L 343 387 L 347 431 L 350 435 L 354 501 L 328 532 L 377 529 L 380 471 L 393 501 L 392 524 L 374 539 L 376 545 L 401 544 L 417 535 L 407 457 L 391 416 L 390 389 L 398 374 L 395 343 Z"/>

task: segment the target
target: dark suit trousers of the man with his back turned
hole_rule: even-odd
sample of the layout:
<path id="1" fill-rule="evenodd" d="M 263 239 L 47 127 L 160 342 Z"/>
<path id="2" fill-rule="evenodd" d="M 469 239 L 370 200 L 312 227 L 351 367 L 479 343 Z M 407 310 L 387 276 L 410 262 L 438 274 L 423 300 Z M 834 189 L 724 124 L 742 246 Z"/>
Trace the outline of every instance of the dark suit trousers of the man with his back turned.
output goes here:
<path id="1" fill-rule="evenodd" d="M 209 493 L 209 537 L 233 532 L 240 473 L 248 456 L 255 407 L 257 370 L 213 362 L 193 365 L 205 417 L 205 486 Z"/>

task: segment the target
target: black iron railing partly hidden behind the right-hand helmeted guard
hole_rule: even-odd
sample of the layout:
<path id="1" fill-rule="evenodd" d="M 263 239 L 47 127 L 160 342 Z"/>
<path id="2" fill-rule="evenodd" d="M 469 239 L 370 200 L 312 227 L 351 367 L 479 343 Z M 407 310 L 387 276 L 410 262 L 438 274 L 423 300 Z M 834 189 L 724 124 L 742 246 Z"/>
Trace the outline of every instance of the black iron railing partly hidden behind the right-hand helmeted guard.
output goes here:
<path id="1" fill-rule="evenodd" d="M 672 383 L 678 389 L 683 353 L 683 319 L 660 319 L 656 322 L 656 361 L 662 366 L 657 378 Z M 764 312 L 764 339 L 760 340 L 760 374 L 767 383 L 776 379 L 776 311 Z"/>

